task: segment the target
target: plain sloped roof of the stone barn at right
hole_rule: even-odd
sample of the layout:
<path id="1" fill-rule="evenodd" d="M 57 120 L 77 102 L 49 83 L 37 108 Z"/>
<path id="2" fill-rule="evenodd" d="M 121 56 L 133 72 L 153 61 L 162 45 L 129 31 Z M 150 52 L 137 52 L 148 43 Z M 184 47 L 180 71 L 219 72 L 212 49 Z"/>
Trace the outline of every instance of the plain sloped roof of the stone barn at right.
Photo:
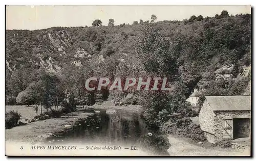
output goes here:
<path id="1" fill-rule="evenodd" d="M 213 111 L 251 110 L 251 96 L 205 96 Z"/>

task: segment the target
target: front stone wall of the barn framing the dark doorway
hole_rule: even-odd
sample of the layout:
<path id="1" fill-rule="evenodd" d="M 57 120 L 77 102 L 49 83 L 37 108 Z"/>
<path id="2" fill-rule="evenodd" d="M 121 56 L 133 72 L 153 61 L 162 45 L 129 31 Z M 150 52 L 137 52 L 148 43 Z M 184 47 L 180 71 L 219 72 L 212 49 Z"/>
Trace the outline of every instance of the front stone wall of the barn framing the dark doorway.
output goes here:
<path id="1" fill-rule="evenodd" d="M 223 122 L 224 119 L 233 119 L 233 118 L 250 118 L 250 111 L 215 111 L 215 140 L 216 142 L 223 140 Z M 231 138 L 230 138 L 231 139 Z"/>

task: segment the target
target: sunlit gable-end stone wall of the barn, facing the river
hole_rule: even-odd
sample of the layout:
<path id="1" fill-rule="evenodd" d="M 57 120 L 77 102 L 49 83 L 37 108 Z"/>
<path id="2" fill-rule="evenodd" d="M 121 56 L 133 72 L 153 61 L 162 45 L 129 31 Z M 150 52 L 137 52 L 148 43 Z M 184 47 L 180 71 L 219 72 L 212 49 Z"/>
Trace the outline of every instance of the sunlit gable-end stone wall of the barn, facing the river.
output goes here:
<path id="1" fill-rule="evenodd" d="M 201 129 L 214 135 L 215 114 L 207 100 L 204 101 L 198 117 Z"/>

